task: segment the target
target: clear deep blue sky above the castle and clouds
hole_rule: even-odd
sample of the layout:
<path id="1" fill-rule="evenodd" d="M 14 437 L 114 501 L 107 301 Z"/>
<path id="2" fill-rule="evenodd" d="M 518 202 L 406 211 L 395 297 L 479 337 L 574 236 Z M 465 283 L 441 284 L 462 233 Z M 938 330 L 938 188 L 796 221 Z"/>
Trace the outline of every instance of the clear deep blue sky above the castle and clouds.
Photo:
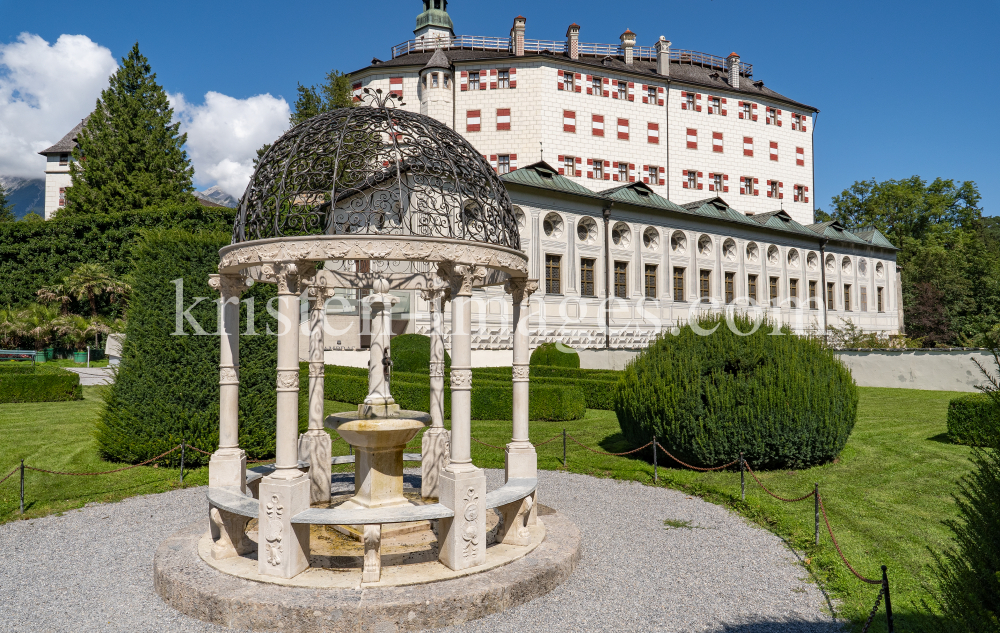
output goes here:
<path id="1" fill-rule="evenodd" d="M 0 47 L 22 33 L 50 44 L 62 35 L 84 35 L 119 59 L 139 41 L 167 91 L 183 94 L 191 112 L 205 113 L 198 108 L 209 92 L 235 100 L 269 94 L 290 103 L 297 82 L 319 82 L 331 68 L 356 70 L 372 56 L 386 59 L 393 44 L 412 37 L 420 7 L 419 0 L 0 0 Z M 737 51 L 754 65 L 755 79 L 820 109 L 819 206 L 855 180 L 917 174 L 974 180 L 985 212 L 1000 213 L 995 0 L 452 0 L 449 13 L 460 34 L 506 36 L 514 16 L 522 14 L 529 38 L 563 39 L 576 22 L 587 42 L 617 42 L 631 28 L 642 45 L 665 35 L 676 48 L 722 56 Z M 3 74 L 0 65 L 0 80 Z M 0 127 L 3 98 L 0 90 Z M 86 114 L 93 99 L 83 100 L 77 108 L 82 114 L 73 110 L 73 116 Z M 280 115 L 273 101 L 257 105 L 270 108 L 272 118 Z M 70 110 L 63 108 L 64 118 Z M 0 161 L 0 173 L 3 167 Z M 205 174 L 199 179 L 202 185 L 210 180 Z"/>

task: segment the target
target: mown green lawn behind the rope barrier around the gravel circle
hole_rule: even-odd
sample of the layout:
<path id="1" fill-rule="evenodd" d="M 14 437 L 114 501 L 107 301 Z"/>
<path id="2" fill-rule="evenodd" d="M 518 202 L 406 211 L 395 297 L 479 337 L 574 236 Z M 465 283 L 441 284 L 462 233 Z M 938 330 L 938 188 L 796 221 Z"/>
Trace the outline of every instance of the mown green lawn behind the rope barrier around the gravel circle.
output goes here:
<path id="1" fill-rule="evenodd" d="M 100 406 L 100 387 L 85 387 L 81 402 L 0 405 L 0 477 L 21 458 L 41 468 L 67 471 L 110 470 L 117 465 L 101 461 L 95 451 L 93 427 Z M 917 609 L 933 587 L 927 573 L 928 547 L 940 549 L 949 540 L 941 525 L 955 514 L 951 498 L 955 482 L 969 469 L 969 449 L 947 443 L 945 412 L 955 393 L 903 389 L 860 389 L 859 417 L 851 439 L 836 463 L 805 471 L 767 472 L 762 480 L 777 494 L 798 497 L 819 483 L 830 521 L 845 555 L 861 573 L 879 574 L 889 567 L 897 630 L 914 630 L 921 624 Z M 349 410 L 352 405 L 327 403 L 327 411 Z M 567 423 L 532 422 L 531 440 L 540 443 L 562 433 L 587 446 L 609 452 L 628 450 L 614 413 L 588 411 L 583 420 Z M 473 422 L 477 439 L 501 446 L 509 441 L 511 423 Z M 335 454 L 347 445 L 334 442 Z M 419 436 L 409 450 L 419 452 Z M 538 449 L 539 467 L 562 470 L 561 439 Z M 632 479 L 652 484 L 650 455 L 606 457 L 588 452 L 572 441 L 568 445 L 568 470 Z M 473 443 L 475 462 L 502 468 L 503 453 Z M 660 457 L 661 465 L 667 462 Z M 668 464 L 669 465 L 669 464 Z M 350 467 L 341 467 L 347 470 Z M 850 575 L 829 542 L 812 545 L 812 500 L 789 504 L 771 499 L 747 477 L 747 500 L 739 498 L 737 472 L 697 473 L 660 468 L 660 485 L 698 495 L 740 512 L 796 548 L 805 551 L 809 570 L 835 601 L 838 613 L 860 625 L 874 602 L 877 587 L 864 585 Z M 93 501 L 115 501 L 136 494 L 176 488 L 176 469 L 141 467 L 99 477 L 65 477 L 29 472 L 27 517 L 37 517 L 80 507 Z M 188 471 L 185 485 L 203 485 L 207 469 Z M 19 518 L 17 475 L 0 484 L 0 522 Z M 884 617 L 872 631 L 884 631 Z"/>

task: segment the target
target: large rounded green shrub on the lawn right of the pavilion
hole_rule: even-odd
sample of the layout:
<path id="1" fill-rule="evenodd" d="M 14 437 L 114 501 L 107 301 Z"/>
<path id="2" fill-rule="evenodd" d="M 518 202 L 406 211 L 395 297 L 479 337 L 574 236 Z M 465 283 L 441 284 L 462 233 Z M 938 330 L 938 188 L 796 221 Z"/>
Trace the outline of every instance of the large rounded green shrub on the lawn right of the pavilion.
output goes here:
<path id="1" fill-rule="evenodd" d="M 816 340 L 754 330 L 746 315 L 721 315 L 666 334 L 632 361 L 615 386 L 626 439 L 655 436 L 685 462 L 737 459 L 761 468 L 800 468 L 836 457 L 857 417 L 850 372 Z M 736 334 L 733 329 L 747 332 Z"/>

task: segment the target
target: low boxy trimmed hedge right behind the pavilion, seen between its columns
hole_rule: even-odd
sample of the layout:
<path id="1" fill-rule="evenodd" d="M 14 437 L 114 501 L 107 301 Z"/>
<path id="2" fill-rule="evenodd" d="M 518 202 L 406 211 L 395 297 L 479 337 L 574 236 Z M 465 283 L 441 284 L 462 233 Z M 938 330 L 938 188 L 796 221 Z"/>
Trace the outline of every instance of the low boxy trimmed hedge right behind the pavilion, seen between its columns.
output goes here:
<path id="1" fill-rule="evenodd" d="M 332 370 L 332 371 L 331 371 Z M 359 374 L 355 368 L 326 368 L 324 395 L 327 400 L 361 404 L 368 396 L 368 372 Z M 392 397 L 404 409 L 428 411 L 430 385 L 428 377 L 419 374 L 396 375 Z M 409 382 L 413 380 L 414 382 Z M 419 381 L 419 382 L 416 382 Z M 472 381 L 472 419 L 507 420 L 513 415 L 514 391 L 511 383 Z M 531 385 L 528 417 L 532 420 L 579 420 L 586 413 L 583 391 L 576 386 Z M 444 388 L 444 415 L 451 417 L 451 389 L 447 380 Z"/>

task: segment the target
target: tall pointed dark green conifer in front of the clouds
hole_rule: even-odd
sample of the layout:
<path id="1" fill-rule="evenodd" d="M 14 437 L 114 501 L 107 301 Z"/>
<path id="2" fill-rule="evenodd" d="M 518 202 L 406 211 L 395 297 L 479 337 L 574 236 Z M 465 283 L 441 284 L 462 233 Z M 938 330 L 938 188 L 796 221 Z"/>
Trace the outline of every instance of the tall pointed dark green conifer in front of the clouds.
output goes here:
<path id="1" fill-rule="evenodd" d="M 136 43 L 77 137 L 65 213 L 113 213 L 188 202 L 187 135 Z M 60 212 L 62 213 L 62 212 Z"/>

